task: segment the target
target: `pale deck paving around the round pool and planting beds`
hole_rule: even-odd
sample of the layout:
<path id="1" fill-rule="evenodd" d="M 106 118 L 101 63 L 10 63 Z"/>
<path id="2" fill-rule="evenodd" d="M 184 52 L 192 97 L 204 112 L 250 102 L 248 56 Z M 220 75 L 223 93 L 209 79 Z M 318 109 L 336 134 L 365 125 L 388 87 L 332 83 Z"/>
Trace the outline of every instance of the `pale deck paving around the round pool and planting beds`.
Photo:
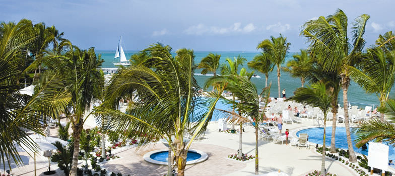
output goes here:
<path id="1" fill-rule="evenodd" d="M 327 123 L 332 125 L 332 121 Z M 339 124 L 338 126 L 344 126 Z M 299 124 L 284 124 L 283 134 L 285 129 L 290 130 L 290 136 L 294 136 L 297 131 L 318 127 L 313 125 L 312 119 L 303 119 L 303 123 Z M 321 125 L 322 127 L 322 125 Z M 236 128 L 238 126 L 236 125 Z M 244 127 L 245 132 L 242 135 L 242 149 L 245 154 L 255 155 L 255 133 L 254 128 L 250 126 Z M 255 162 L 251 161 L 235 161 L 227 158 L 229 154 L 237 152 L 239 146 L 239 135 L 218 132 L 218 124 L 213 121 L 209 124 L 204 139 L 193 141 L 191 148 L 202 150 L 208 153 L 209 158 L 198 164 L 187 165 L 185 169 L 186 175 L 252 175 L 254 174 Z M 153 164 L 145 161 L 143 155 L 148 151 L 166 149 L 160 143 L 152 143 L 139 150 L 136 148 L 122 149 L 115 152 L 121 158 L 106 161 L 101 164 L 102 168 L 109 171 L 121 172 L 123 175 L 163 175 L 166 173 L 165 165 Z M 259 139 L 259 173 L 268 173 L 272 171 L 281 170 L 289 175 L 306 175 L 306 173 L 313 170 L 319 170 L 321 167 L 321 155 L 314 151 L 314 146 L 310 149 L 298 149 L 294 146 L 273 143 L 272 140 Z M 57 169 L 55 175 L 64 175 L 56 166 L 56 163 L 51 166 L 52 169 Z M 82 162 L 80 163 L 82 164 Z M 37 175 L 43 175 L 42 172 L 47 169 L 47 158 L 37 158 Z M 326 160 L 325 167 L 328 172 L 336 173 L 337 175 L 355 175 L 355 173 L 337 161 Z M 13 169 L 14 175 L 34 175 L 33 159 L 29 160 L 29 164 L 21 168 Z M 28 172 L 28 173 L 26 173 Z"/>

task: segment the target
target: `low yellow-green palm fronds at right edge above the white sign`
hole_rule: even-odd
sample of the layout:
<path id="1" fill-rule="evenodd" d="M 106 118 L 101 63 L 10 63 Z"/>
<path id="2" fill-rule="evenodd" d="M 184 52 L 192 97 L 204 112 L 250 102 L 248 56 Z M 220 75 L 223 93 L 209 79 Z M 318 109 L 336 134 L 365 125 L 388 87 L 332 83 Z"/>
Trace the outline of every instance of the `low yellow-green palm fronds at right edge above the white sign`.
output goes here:
<path id="1" fill-rule="evenodd" d="M 395 147 L 395 100 L 389 99 L 386 104 L 385 120 L 369 119 L 357 124 L 354 131 L 357 136 L 355 139 L 357 147 L 370 141 L 385 141 Z"/>

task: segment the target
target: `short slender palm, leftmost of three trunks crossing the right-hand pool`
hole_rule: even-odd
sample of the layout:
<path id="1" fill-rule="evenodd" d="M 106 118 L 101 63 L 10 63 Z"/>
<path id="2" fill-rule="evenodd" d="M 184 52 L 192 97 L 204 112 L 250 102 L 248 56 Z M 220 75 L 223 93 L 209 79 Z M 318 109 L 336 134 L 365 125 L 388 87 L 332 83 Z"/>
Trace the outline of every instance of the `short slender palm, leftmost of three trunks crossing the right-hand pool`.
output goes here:
<path id="1" fill-rule="evenodd" d="M 311 87 L 300 87 L 294 92 L 294 96 L 286 101 L 295 101 L 302 104 L 307 104 L 312 107 L 318 107 L 324 116 L 323 120 L 323 142 L 322 142 L 322 163 L 321 173 L 325 173 L 325 139 L 326 139 L 326 115 L 331 108 L 333 100 L 331 91 L 326 90 L 325 83 L 313 83 Z"/>

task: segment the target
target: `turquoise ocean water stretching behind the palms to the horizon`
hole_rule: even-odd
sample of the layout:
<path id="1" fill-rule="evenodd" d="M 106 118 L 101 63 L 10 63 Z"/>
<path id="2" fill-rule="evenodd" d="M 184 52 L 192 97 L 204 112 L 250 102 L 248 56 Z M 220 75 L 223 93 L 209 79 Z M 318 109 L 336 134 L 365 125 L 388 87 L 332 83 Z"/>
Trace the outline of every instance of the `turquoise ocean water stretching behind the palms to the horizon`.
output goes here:
<path id="1" fill-rule="evenodd" d="M 138 51 L 125 51 L 126 58 L 130 58 L 131 55 L 136 53 Z M 248 61 L 251 61 L 252 58 L 258 54 L 259 52 L 237 52 L 237 51 L 194 51 L 195 54 L 195 63 L 199 63 L 203 57 L 207 56 L 210 52 L 212 53 L 217 53 L 221 54 L 221 59 L 220 59 L 220 64 L 225 62 L 226 58 L 231 58 L 233 59 L 234 57 L 237 57 L 238 55 L 244 57 Z M 113 65 L 114 62 L 114 55 L 115 51 L 114 50 L 98 50 L 96 51 L 97 54 L 101 54 L 101 58 L 104 59 L 103 63 L 103 68 L 114 68 L 115 66 Z M 286 65 L 288 60 L 292 60 L 293 57 L 292 55 L 295 54 L 296 52 L 289 52 L 287 57 L 285 58 L 285 62 L 283 66 Z M 248 68 L 247 63 L 243 64 L 242 67 L 245 67 L 248 71 L 252 71 L 251 69 Z M 268 84 L 272 83 L 272 87 L 270 90 L 271 97 L 278 97 L 278 84 L 277 84 L 277 68 L 274 69 L 273 72 L 269 74 L 269 80 Z M 209 78 L 210 75 L 199 75 L 201 72 L 201 69 L 196 69 L 195 70 L 195 78 L 198 81 L 200 86 L 203 86 L 204 82 L 206 81 L 207 78 Z M 218 70 L 219 72 L 219 70 Z M 196 75 L 198 74 L 198 75 Z M 265 75 L 256 72 L 256 75 L 260 76 L 260 78 L 257 77 L 252 77 L 251 81 L 256 84 L 256 87 L 259 91 L 265 86 Z M 305 83 L 305 86 L 308 85 L 308 83 Z M 280 86 L 281 86 L 281 91 L 283 89 L 286 89 L 286 95 L 287 97 L 293 96 L 293 92 L 301 86 L 300 78 L 295 78 L 290 76 L 289 73 L 285 71 L 281 71 L 281 77 L 280 77 Z M 365 108 L 365 106 L 372 106 L 376 107 L 379 104 L 378 98 L 375 94 L 369 94 L 366 93 L 357 83 L 351 82 L 351 85 L 348 90 L 348 101 L 351 102 L 351 105 L 356 105 L 358 108 Z M 391 94 L 392 95 L 392 94 Z M 392 96 L 391 96 L 392 97 Z M 343 95 L 342 92 L 339 94 L 339 104 L 341 104 L 341 107 L 343 107 Z M 366 105 L 367 104 L 367 105 Z"/>

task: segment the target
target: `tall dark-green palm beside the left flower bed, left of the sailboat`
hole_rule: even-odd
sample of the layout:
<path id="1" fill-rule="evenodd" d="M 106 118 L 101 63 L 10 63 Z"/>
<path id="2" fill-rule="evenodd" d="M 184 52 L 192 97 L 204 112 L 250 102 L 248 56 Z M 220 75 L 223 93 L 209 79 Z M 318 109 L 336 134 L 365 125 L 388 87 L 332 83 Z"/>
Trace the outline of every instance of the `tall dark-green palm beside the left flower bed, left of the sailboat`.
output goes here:
<path id="1" fill-rule="evenodd" d="M 70 95 L 71 101 L 66 111 L 70 111 L 74 137 L 73 163 L 70 175 L 77 174 L 80 135 L 83 130 L 89 107 L 93 101 L 100 100 L 104 78 L 100 67 L 103 60 L 97 57 L 94 48 L 81 50 L 70 41 L 63 41 L 61 54 L 47 52 L 45 57 L 36 60 L 53 70 L 63 82 L 63 89 Z M 35 61 L 35 62 L 36 62 Z"/>

